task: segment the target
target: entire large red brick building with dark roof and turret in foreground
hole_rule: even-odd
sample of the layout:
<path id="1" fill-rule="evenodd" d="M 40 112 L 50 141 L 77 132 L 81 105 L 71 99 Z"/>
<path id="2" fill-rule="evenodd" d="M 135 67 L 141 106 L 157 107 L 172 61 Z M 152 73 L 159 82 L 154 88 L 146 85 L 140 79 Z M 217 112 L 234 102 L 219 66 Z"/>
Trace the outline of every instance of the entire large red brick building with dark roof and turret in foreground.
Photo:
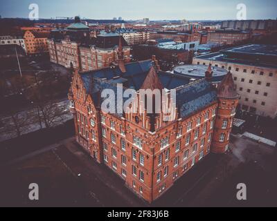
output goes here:
<path id="1" fill-rule="evenodd" d="M 190 83 L 186 77 L 159 70 L 155 59 L 123 64 L 120 55 L 119 63 L 73 74 L 69 99 L 75 136 L 93 159 L 152 202 L 210 152 L 226 151 L 238 94 L 231 73 L 218 88 L 212 86 L 211 66 L 206 79 Z M 166 88 L 172 93 L 176 89 L 177 107 L 170 109 L 171 121 L 163 120 L 163 112 L 101 111 L 102 90 L 116 91 L 118 83 L 123 91 Z"/>

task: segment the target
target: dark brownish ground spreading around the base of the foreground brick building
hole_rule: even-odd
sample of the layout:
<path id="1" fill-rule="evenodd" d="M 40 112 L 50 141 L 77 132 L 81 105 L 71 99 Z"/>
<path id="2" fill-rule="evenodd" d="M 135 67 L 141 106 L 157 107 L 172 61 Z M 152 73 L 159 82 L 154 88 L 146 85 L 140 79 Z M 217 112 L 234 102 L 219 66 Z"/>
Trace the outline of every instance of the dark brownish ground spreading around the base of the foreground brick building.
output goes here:
<path id="1" fill-rule="evenodd" d="M 94 162 L 70 138 L 2 167 L 1 205 L 20 206 L 276 206 L 276 150 L 232 137 L 231 152 L 208 155 L 161 197 L 148 204 L 123 180 Z M 40 198 L 28 200 L 28 184 L 39 184 Z M 236 185 L 247 185 L 247 200 L 238 201 Z M 5 193 L 5 186 L 17 191 Z"/>

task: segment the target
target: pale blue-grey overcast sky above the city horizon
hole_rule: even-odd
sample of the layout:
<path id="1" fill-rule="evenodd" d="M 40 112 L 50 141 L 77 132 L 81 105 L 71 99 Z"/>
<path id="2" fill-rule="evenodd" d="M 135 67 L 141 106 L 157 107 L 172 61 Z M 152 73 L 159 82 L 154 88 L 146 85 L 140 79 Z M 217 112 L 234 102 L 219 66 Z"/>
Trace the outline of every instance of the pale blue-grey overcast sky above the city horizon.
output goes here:
<path id="1" fill-rule="evenodd" d="M 136 20 L 236 19 L 237 5 L 247 6 L 247 19 L 276 19 L 276 0 L 0 0 L 1 17 L 27 18 L 31 3 L 39 6 L 39 18 L 75 17 Z"/>

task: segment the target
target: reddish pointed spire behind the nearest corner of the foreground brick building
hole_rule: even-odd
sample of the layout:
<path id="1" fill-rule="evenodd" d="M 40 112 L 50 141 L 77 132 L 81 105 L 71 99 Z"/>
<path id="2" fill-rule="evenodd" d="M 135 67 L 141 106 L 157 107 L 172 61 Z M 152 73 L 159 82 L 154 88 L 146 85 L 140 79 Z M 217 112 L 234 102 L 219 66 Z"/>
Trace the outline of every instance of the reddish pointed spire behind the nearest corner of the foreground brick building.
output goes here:
<path id="1" fill-rule="evenodd" d="M 163 90 L 163 84 L 161 84 L 161 81 L 154 66 L 151 66 L 148 75 L 145 77 L 145 80 L 143 81 L 141 89 Z"/>

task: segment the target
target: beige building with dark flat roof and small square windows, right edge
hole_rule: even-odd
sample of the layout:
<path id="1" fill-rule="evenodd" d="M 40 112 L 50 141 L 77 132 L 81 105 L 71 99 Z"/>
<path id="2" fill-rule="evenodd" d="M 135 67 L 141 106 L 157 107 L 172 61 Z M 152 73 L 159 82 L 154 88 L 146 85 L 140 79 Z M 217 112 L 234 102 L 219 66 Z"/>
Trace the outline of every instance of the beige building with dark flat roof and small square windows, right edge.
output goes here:
<path id="1" fill-rule="evenodd" d="M 193 58 L 193 64 L 210 63 L 231 70 L 240 94 L 240 109 L 276 117 L 277 46 L 251 44 Z"/>

